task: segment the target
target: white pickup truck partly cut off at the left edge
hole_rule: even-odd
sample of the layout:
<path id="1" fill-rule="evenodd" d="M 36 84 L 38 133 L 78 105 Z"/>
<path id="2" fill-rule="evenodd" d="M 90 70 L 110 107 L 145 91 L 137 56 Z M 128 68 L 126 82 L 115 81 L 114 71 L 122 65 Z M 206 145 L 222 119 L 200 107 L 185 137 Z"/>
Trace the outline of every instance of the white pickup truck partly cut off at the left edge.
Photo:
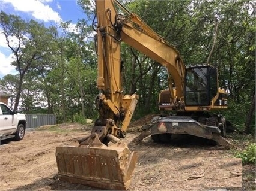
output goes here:
<path id="1" fill-rule="evenodd" d="M 25 115 L 11 110 L 6 104 L 0 102 L 0 140 L 9 138 L 14 138 L 16 141 L 22 140 L 25 129 Z"/>

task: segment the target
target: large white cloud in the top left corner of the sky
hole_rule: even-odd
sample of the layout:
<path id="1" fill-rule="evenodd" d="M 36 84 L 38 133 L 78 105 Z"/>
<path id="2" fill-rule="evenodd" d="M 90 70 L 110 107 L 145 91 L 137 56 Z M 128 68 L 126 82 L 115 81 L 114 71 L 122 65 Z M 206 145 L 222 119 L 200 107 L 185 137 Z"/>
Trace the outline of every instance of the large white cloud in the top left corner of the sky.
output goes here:
<path id="1" fill-rule="evenodd" d="M 24 2 L 20 0 L 0 0 L 0 3 L 10 3 L 15 10 L 31 13 L 36 19 L 43 20 L 44 22 L 49 22 L 50 20 L 61 22 L 62 19 L 59 13 L 49 7 L 49 5 L 44 4 L 51 1 L 52 0 L 26 0 L 26 2 Z"/>

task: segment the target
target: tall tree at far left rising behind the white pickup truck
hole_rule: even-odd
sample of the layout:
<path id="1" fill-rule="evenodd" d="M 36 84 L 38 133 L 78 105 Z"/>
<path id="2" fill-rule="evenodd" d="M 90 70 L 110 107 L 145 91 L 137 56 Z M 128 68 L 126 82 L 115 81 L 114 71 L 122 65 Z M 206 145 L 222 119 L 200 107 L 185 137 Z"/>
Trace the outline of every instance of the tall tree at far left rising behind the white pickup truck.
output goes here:
<path id="1" fill-rule="evenodd" d="M 19 72 L 19 84 L 14 103 L 14 110 L 17 110 L 24 77 L 29 70 L 37 66 L 38 60 L 43 59 L 46 54 L 50 54 L 52 33 L 43 24 L 34 20 L 25 22 L 19 16 L 8 15 L 4 11 L 1 11 L 0 17 L 0 28 L 15 57 L 12 65 L 16 66 L 16 70 Z M 16 43 L 13 43 L 13 40 Z"/>

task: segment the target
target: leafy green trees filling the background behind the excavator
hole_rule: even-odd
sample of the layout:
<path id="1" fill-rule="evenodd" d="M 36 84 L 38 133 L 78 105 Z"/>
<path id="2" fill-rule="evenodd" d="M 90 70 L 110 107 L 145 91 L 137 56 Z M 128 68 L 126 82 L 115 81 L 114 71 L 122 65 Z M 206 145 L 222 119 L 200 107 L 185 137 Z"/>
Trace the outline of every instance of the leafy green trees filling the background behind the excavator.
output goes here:
<path id="1" fill-rule="evenodd" d="M 214 20 L 218 19 L 218 38 L 210 63 L 218 67 L 219 84 L 229 92 L 229 109 L 222 113 L 243 131 L 255 92 L 253 2 L 135 0 L 124 3 L 157 34 L 174 44 L 187 66 L 206 63 L 213 44 Z M 94 2 L 79 0 L 78 4 L 87 18 L 92 19 L 96 13 Z M 0 80 L 1 89 L 13 95 L 11 104 L 19 97 L 18 104 L 26 113 L 56 114 L 61 123 L 96 119 L 97 55 L 87 21 L 78 20 L 77 31 L 69 32 L 70 22 L 47 28 L 3 11 L 0 16 L 0 29 L 17 58 L 13 65 L 19 70 L 18 75 L 7 75 Z M 12 38 L 20 40 L 20 44 L 12 43 Z M 139 95 L 133 119 L 159 113 L 159 92 L 168 87 L 166 69 L 124 43 L 121 50 L 124 93 L 137 90 Z M 252 119 L 253 131 L 255 112 Z"/>

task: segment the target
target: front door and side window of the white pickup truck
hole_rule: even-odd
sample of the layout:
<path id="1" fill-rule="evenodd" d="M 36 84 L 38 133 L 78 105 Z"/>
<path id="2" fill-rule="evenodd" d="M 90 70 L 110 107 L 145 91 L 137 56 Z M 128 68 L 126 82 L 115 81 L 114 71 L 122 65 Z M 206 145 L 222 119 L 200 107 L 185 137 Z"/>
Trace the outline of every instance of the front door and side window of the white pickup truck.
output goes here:
<path id="1" fill-rule="evenodd" d="M 12 134 L 16 130 L 13 124 L 13 111 L 5 104 L 0 103 L 0 135 Z"/>

